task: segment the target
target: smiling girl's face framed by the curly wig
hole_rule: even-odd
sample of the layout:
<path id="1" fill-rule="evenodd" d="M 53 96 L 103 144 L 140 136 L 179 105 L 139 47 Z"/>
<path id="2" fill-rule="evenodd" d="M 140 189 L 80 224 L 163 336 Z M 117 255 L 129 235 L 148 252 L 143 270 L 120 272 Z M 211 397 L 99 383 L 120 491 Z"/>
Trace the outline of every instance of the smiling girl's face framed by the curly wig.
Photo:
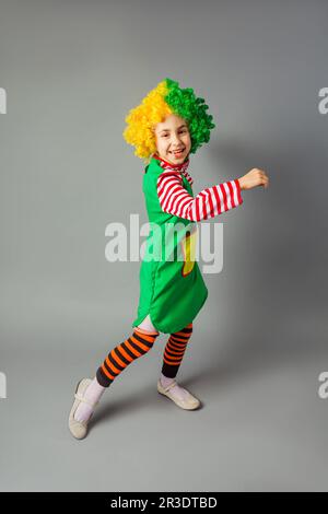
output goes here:
<path id="1" fill-rule="evenodd" d="M 154 129 L 157 153 L 171 164 L 181 164 L 191 149 L 188 124 L 184 118 L 172 114 Z"/>

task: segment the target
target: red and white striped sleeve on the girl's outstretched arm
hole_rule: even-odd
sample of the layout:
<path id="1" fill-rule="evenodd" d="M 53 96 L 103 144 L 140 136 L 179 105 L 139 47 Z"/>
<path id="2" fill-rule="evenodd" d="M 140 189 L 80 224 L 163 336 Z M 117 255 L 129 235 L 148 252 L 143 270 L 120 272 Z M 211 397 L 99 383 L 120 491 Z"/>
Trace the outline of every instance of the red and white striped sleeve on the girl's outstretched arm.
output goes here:
<path id="1" fill-rule="evenodd" d="M 190 221 L 214 218 L 243 203 L 237 178 L 203 189 L 194 198 L 184 188 L 180 173 L 174 171 L 161 173 L 157 195 L 164 212 Z"/>

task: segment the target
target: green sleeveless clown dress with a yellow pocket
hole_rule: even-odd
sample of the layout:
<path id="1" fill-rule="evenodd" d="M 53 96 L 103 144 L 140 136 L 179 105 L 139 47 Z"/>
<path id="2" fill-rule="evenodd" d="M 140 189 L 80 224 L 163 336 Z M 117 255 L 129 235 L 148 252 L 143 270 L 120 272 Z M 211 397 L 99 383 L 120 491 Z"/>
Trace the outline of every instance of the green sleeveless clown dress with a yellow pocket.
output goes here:
<path id="1" fill-rule="evenodd" d="M 197 223 L 164 212 L 160 205 L 157 178 L 163 171 L 160 161 L 152 157 L 143 175 L 150 233 L 140 266 L 140 297 L 132 327 L 150 314 L 157 331 L 173 334 L 195 319 L 208 289 L 195 259 Z M 191 185 L 181 177 L 183 187 L 194 197 Z"/>

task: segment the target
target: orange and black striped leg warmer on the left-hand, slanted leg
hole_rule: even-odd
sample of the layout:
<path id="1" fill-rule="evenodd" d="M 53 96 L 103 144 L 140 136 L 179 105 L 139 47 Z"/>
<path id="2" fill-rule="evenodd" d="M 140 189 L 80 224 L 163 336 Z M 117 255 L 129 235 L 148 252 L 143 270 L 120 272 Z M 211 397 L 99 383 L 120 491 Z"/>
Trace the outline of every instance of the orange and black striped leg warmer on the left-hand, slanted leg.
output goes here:
<path id="1" fill-rule="evenodd" d="M 103 387 L 108 387 L 131 362 L 149 352 L 159 332 L 145 334 L 138 327 L 134 328 L 133 335 L 115 347 L 97 369 L 97 382 Z"/>

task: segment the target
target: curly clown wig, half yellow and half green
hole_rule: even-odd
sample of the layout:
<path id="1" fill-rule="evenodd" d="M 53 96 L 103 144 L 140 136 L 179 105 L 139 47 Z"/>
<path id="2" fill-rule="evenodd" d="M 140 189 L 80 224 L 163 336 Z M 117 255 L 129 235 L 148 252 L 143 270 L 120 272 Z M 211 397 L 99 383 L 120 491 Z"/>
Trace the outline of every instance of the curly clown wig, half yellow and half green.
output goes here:
<path id="1" fill-rule="evenodd" d="M 156 152 L 156 124 L 175 114 L 187 121 L 191 139 L 190 153 L 196 153 L 202 143 L 209 142 L 210 130 L 215 127 L 213 116 L 207 113 L 208 108 L 204 100 L 197 97 L 192 89 L 181 89 L 178 82 L 165 79 L 129 112 L 125 118 L 127 127 L 124 138 L 136 147 L 134 155 L 148 162 L 151 154 Z"/>

